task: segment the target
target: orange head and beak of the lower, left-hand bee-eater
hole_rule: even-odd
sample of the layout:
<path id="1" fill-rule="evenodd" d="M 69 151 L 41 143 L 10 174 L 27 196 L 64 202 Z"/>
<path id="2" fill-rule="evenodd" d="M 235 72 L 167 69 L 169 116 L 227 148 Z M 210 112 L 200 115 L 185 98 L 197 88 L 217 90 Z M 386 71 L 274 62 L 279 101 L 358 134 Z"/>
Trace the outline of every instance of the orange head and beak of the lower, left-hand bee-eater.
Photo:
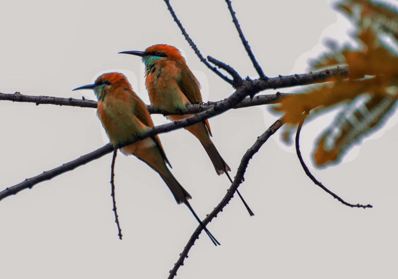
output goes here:
<path id="1" fill-rule="evenodd" d="M 119 86 L 128 87 L 129 89 L 131 89 L 129 81 L 127 81 L 127 78 L 123 74 L 106 73 L 99 76 L 94 84 L 84 85 L 75 88 L 72 91 L 80 89 L 93 89 L 98 101 L 100 101 L 103 100 L 105 95 L 107 95 L 107 93 L 109 93 L 112 88 L 116 88 Z"/>

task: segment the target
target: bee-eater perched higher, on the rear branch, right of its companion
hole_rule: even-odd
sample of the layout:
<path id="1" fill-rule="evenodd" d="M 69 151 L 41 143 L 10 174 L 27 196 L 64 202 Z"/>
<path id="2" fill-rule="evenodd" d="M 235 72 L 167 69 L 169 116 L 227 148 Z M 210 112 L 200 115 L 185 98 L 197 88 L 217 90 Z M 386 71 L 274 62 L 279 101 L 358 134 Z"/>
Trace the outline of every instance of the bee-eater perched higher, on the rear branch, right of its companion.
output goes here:
<path id="1" fill-rule="evenodd" d="M 202 95 L 199 90 L 199 81 L 189 70 L 185 59 L 176 47 L 169 45 L 153 45 L 145 51 L 123 51 L 119 53 L 133 54 L 142 57 L 145 65 L 145 85 L 148 90 L 149 100 L 153 108 L 175 112 L 176 115 L 166 116 L 175 121 L 192 116 L 193 114 L 183 114 L 187 112 L 186 104 L 202 103 Z M 230 178 L 228 171 L 230 167 L 222 159 L 219 151 L 211 141 L 211 130 L 209 121 L 193 124 L 184 128 L 193 134 L 202 143 L 207 155 L 218 175 L 225 174 Z M 244 203 L 250 216 L 253 211 L 249 208 L 242 195 L 236 190 L 240 199 Z"/>

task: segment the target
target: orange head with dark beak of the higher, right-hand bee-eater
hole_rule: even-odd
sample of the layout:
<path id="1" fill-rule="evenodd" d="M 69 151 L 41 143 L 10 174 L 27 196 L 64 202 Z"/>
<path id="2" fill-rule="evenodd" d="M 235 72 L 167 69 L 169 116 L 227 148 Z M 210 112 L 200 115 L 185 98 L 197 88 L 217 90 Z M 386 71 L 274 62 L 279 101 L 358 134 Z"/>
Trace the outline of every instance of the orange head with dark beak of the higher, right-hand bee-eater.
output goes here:
<path id="1" fill-rule="evenodd" d="M 169 45 L 153 45 L 146 48 L 145 51 L 123 51 L 119 53 L 127 53 L 138 55 L 142 57 L 142 62 L 145 64 L 146 70 L 149 70 L 159 60 L 172 60 L 175 62 L 185 63 L 185 59 L 182 57 L 181 52 L 178 48 Z"/>

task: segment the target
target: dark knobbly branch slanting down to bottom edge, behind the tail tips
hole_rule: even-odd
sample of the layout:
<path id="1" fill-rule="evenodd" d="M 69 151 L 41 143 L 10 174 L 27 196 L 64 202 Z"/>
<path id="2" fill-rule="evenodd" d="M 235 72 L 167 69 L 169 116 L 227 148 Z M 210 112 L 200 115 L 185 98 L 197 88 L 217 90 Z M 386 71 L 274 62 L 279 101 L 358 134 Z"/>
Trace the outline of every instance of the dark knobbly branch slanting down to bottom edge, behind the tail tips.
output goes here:
<path id="1" fill-rule="evenodd" d="M 228 189 L 224 198 L 222 198 L 221 202 L 217 205 L 217 207 L 215 207 L 215 209 L 213 209 L 213 211 L 211 211 L 211 213 L 207 215 L 207 217 L 202 221 L 204 225 L 209 224 L 211 220 L 217 217 L 217 214 L 219 214 L 228 204 L 238 186 L 244 181 L 244 173 L 246 172 L 246 168 L 248 167 L 250 159 L 252 159 L 253 155 L 258 152 L 258 150 L 265 143 L 265 141 L 267 141 L 267 139 L 270 136 L 272 136 L 279 128 L 281 128 L 281 126 L 283 125 L 282 121 L 283 121 L 282 118 L 279 118 L 261 136 L 259 136 L 254 145 L 252 145 L 252 147 L 250 147 L 246 151 L 246 153 L 242 157 L 242 160 L 240 161 L 240 165 L 238 167 L 238 171 L 236 172 L 234 182 L 232 183 L 231 187 Z M 173 279 L 174 276 L 176 276 L 179 267 L 184 264 L 185 258 L 188 257 L 189 250 L 191 249 L 193 244 L 195 244 L 195 240 L 198 238 L 201 231 L 202 227 L 201 226 L 197 227 L 195 232 L 192 234 L 191 238 L 189 238 L 189 241 L 187 245 L 185 245 L 182 253 L 180 254 L 178 261 L 174 264 L 173 269 L 170 270 L 170 275 L 168 279 Z"/>

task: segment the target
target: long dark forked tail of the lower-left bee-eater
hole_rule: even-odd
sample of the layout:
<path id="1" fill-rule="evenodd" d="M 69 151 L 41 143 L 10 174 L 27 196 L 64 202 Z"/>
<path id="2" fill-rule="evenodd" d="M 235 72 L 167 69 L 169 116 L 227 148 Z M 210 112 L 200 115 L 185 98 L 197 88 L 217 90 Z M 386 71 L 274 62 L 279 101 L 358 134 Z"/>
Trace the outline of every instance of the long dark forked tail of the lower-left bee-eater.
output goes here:
<path id="1" fill-rule="evenodd" d="M 195 219 L 199 222 L 199 224 L 202 226 L 203 230 L 207 233 L 211 241 L 215 246 L 221 245 L 220 242 L 217 241 L 217 239 L 209 232 L 209 230 L 206 228 L 206 226 L 202 223 L 202 221 L 199 219 L 198 215 L 195 213 L 193 210 L 191 204 L 188 202 L 189 199 L 191 199 L 191 195 L 179 184 L 177 179 L 173 176 L 173 174 L 169 171 L 167 174 L 161 174 L 159 172 L 160 176 L 172 192 L 174 198 L 176 199 L 176 202 L 178 204 L 180 203 L 185 203 L 185 205 L 189 208 L 189 210 L 192 212 L 193 216 Z"/>

